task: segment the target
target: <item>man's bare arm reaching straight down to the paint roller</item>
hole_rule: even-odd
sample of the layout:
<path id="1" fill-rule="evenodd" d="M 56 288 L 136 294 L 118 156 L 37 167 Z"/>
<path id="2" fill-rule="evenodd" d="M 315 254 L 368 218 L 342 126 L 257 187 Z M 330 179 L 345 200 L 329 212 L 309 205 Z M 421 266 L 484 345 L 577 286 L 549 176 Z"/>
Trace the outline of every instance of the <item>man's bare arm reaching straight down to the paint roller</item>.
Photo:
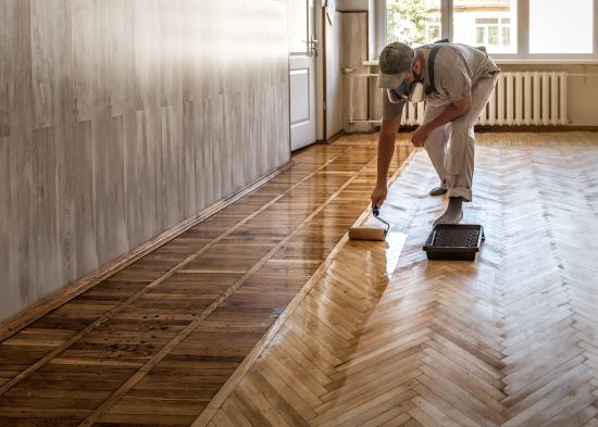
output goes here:
<path id="1" fill-rule="evenodd" d="M 388 193 L 388 168 L 395 155 L 395 140 L 401 124 L 401 114 L 395 118 L 383 120 L 378 136 L 377 183 L 372 192 L 372 208 L 379 208 Z"/>

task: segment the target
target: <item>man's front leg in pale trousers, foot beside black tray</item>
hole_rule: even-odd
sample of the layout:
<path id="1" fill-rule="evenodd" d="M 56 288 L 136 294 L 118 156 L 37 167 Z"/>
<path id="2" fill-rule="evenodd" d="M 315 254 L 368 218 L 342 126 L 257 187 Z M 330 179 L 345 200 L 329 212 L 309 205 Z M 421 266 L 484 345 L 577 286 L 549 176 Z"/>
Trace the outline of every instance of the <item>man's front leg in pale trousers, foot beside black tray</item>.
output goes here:
<path id="1" fill-rule="evenodd" d="M 449 205 L 435 224 L 457 224 L 463 217 L 462 203 L 472 201 L 472 183 L 475 156 L 473 126 L 493 95 L 498 75 L 481 78 L 472 88 L 470 111 L 452 121 L 452 138 L 447 156 L 447 196 Z"/>

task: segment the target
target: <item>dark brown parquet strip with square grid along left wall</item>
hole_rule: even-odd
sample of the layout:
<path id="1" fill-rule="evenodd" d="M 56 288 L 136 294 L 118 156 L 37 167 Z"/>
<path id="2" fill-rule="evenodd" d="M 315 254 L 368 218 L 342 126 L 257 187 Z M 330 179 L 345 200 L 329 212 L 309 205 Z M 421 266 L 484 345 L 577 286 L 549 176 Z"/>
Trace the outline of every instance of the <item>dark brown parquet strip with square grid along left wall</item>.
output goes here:
<path id="1" fill-rule="evenodd" d="M 303 150 L 258 191 L 2 341 L 0 426 L 191 425 L 366 208 L 375 141 Z M 411 152 L 398 145 L 393 171 Z"/>

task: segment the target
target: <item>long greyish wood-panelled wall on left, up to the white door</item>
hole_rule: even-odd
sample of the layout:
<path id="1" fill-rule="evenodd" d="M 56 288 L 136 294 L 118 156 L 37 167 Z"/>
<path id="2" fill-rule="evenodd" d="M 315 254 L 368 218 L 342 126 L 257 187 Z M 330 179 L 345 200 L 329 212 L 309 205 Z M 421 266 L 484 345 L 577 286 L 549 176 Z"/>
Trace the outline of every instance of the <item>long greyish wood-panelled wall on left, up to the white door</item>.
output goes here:
<path id="1" fill-rule="evenodd" d="M 0 322 L 289 160 L 286 20 L 0 1 Z"/>

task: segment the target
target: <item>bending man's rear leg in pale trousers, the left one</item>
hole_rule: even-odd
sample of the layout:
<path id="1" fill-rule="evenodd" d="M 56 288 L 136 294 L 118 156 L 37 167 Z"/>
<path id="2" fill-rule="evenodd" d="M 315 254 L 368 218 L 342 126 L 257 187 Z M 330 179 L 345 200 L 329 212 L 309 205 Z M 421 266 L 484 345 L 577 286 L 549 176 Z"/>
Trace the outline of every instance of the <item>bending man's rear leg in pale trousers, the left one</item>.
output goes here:
<path id="1" fill-rule="evenodd" d="M 436 118 L 436 116 L 443 112 L 445 106 L 428 105 L 425 111 L 424 123 Z M 440 186 L 433 188 L 429 191 L 431 196 L 440 196 L 447 192 L 447 142 L 450 137 L 450 123 L 434 129 L 432 134 L 429 134 L 429 137 L 424 146 L 427 151 L 427 155 L 429 156 L 429 160 L 438 174 L 438 178 L 440 179 Z"/>

